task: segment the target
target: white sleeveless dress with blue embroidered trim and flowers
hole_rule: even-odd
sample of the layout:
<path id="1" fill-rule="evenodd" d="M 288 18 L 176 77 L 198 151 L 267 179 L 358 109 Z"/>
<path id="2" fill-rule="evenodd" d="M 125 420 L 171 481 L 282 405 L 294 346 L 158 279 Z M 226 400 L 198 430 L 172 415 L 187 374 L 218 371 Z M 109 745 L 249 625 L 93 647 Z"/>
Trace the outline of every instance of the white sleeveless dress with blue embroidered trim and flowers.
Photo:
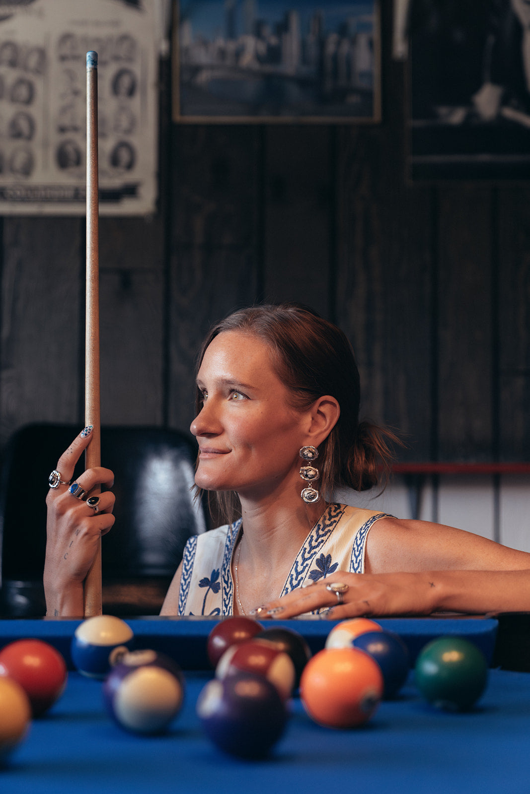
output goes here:
<path id="1" fill-rule="evenodd" d="M 388 513 L 330 504 L 305 539 L 281 595 L 335 571 L 363 573 L 370 527 Z M 189 538 L 180 577 L 179 615 L 232 615 L 232 554 L 242 519 Z"/>

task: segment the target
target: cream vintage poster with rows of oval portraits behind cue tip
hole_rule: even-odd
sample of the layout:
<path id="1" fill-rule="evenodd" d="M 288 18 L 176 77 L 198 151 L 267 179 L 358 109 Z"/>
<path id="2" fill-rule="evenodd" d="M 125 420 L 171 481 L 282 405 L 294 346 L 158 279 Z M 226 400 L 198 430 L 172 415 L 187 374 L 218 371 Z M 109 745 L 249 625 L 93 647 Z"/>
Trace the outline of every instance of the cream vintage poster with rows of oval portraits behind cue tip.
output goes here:
<path id="1" fill-rule="evenodd" d="M 85 213 L 88 50 L 98 53 L 100 213 L 153 213 L 158 139 L 156 3 L 2 3 L 2 214 Z"/>

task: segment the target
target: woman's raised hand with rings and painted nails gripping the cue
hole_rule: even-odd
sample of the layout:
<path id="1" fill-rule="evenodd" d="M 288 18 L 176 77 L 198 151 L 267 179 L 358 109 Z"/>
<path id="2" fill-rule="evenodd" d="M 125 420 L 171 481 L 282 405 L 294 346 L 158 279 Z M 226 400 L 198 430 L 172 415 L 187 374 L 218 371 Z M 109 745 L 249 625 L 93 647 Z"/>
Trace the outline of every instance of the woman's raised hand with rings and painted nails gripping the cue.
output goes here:
<path id="1" fill-rule="evenodd" d="M 48 505 L 44 592 L 48 615 L 83 615 L 83 581 L 94 561 L 99 538 L 114 524 L 114 474 L 108 468 L 88 468 L 75 480 L 86 493 L 78 499 L 69 491 L 69 484 L 79 457 L 91 441 L 91 427 L 83 430 L 61 455 L 56 466 L 62 484 L 50 488 Z M 86 499 L 99 495 L 97 511 Z"/>

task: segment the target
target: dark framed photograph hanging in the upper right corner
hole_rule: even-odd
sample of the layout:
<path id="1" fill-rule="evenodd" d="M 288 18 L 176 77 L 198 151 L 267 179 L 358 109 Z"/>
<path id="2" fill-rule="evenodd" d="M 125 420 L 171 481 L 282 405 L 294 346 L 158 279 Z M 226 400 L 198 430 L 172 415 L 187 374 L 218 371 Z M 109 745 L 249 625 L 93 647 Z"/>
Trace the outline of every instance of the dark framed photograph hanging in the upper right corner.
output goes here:
<path id="1" fill-rule="evenodd" d="M 528 0 L 410 0 L 408 176 L 530 178 Z"/>

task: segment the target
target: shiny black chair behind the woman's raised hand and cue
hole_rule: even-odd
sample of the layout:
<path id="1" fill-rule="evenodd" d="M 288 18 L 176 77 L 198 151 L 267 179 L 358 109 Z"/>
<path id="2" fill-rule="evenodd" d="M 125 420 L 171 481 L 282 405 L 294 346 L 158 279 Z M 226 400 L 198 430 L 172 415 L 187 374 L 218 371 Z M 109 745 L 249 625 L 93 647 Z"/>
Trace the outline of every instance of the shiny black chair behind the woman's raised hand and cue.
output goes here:
<path id="1" fill-rule="evenodd" d="M 48 475 L 79 432 L 29 425 L 6 445 L 0 480 L 0 616 L 45 614 L 42 572 Z M 191 491 L 195 445 L 176 430 L 103 427 L 102 465 L 114 471 L 116 522 L 102 540 L 103 611 L 157 615 L 192 534 L 207 529 Z M 83 471 L 84 455 L 75 470 Z"/>

